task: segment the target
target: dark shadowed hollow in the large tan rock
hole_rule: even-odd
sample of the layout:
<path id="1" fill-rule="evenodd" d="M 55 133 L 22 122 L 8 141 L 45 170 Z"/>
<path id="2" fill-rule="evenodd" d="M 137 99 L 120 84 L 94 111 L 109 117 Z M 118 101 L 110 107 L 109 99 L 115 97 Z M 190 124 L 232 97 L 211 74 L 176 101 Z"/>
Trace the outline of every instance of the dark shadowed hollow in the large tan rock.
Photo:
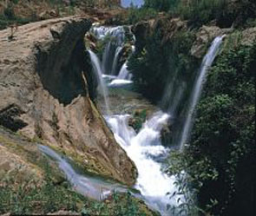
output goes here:
<path id="1" fill-rule="evenodd" d="M 87 29 L 82 27 L 72 24 L 61 33 L 50 29 L 55 40 L 51 48 L 45 49 L 40 44 L 36 46 L 36 70 L 43 88 L 64 105 L 69 104 L 78 95 L 87 94 L 82 79 L 85 61 L 83 36 Z M 78 35 L 80 37 L 77 37 Z"/>

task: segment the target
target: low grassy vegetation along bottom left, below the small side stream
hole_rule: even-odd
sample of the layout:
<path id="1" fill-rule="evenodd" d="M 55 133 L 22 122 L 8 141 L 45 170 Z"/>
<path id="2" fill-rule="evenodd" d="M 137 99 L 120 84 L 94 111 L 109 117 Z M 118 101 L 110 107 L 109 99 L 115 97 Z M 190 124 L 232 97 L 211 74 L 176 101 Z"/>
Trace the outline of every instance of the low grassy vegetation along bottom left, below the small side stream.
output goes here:
<path id="1" fill-rule="evenodd" d="M 44 163 L 43 180 L 17 182 L 20 173 L 0 180 L 0 213 L 32 214 L 55 213 L 59 210 L 82 213 L 82 215 L 146 216 L 154 215 L 148 208 L 132 197 L 131 193 L 114 193 L 107 201 L 90 200 L 75 193 L 67 181 L 52 180 L 53 169 Z"/>

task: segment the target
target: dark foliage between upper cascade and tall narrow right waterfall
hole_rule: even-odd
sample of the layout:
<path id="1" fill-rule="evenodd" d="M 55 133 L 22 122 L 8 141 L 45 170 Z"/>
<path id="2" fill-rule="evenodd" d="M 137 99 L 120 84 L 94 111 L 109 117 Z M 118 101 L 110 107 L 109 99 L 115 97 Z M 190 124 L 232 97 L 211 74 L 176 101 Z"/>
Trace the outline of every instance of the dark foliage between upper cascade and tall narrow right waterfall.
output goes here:
<path id="1" fill-rule="evenodd" d="M 189 79 L 198 64 L 189 55 L 194 32 L 181 30 L 166 39 L 162 25 L 164 23 L 159 23 L 159 28 L 147 38 L 140 39 L 140 43 L 137 40 L 136 52 L 128 61 L 137 88 L 153 100 L 159 100 L 159 95 L 163 95 L 169 77 L 177 73 L 180 81 Z"/>

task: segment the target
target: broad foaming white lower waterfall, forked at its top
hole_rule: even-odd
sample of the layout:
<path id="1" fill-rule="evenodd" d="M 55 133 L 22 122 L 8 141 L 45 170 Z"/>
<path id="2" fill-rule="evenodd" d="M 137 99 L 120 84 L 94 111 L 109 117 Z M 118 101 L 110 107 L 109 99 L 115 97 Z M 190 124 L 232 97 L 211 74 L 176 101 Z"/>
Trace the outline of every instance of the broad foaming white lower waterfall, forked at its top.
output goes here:
<path id="1" fill-rule="evenodd" d="M 177 190 L 174 186 L 175 178 L 163 173 L 161 162 L 158 161 L 168 153 L 168 149 L 161 145 L 161 129 L 167 123 L 169 115 L 161 111 L 156 112 L 143 124 L 138 134 L 128 127 L 128 118 L 129 115 L 106 116 L 108 125 L 115 134 L 115 140 L 135 162 L 139 174 L 135 187 L 141 191 L 148 205 L 153 206 L 162 215 L 170 215 L 167 205 L 177 206 L 182 197 L 175 196 L 170 199 L 168 194 Z"/>

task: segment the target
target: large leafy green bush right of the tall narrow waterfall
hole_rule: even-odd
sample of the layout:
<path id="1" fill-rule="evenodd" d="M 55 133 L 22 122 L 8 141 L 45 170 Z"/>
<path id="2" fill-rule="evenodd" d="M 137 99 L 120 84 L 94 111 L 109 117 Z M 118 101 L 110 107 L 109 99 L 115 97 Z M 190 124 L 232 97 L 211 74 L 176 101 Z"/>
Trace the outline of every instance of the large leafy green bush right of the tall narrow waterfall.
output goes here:
<path id="1" fill-rule="evenodd" d="M 256 43 L 225 49 L 218 57 L 197 107 L 190 145 L 183 155 L 171 156 L 168 172 L 178 176 L 181 193 L 188 187 L 197 195 L 200 212 L 253 213 L 248 197 L 254 182 L 255 56 Z"/>

